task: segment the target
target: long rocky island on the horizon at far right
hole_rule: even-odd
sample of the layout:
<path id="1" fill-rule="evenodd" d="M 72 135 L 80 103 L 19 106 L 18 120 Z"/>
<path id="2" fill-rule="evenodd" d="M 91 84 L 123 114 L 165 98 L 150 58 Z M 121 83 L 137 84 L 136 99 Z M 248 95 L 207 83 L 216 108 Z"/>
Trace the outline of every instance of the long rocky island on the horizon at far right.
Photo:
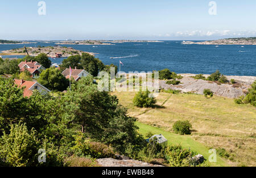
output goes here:
<path id="1" fill-rule="evenodd" d="M 256 45 L 256 37 L 242 37 L 232 39 L 221 39 L 213 41 L 183 41 L 182 44 L 201 44 L 201 45 Z"/>

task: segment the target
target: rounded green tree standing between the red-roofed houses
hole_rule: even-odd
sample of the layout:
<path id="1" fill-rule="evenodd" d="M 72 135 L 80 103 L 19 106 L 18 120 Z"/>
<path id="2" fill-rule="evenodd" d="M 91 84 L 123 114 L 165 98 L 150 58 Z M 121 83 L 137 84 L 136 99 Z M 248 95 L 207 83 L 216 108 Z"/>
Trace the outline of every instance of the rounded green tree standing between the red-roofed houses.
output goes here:
<path id="1" fill-rule="evenodd" d="M 60 70 L 53 67 L 44 70 L 38 82 L 53 91 L 64 91 L 69 86 L 69 80 L 61 74 Z"/>

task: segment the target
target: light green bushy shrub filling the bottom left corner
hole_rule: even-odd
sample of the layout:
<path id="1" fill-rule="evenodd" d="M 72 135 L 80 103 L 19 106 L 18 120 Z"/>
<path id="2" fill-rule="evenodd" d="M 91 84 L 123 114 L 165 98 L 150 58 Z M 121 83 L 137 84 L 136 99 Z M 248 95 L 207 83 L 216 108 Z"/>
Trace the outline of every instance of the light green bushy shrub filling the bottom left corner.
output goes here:
<path id="1" fill-rule="evenodd" d="M 3 133 L 0 145 L 2 158 L 9 166 L 36 166 L 38 163 L 36 132 L 28 132 L 25 124 L 11 125 L 10 134 Z"/>

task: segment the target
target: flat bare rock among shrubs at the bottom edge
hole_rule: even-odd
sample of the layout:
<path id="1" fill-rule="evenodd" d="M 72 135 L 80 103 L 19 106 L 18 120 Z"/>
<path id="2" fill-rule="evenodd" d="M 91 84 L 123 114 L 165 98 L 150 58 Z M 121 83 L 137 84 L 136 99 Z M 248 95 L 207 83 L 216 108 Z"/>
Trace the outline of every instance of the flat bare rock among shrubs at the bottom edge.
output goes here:
<path id="1" fill-rule="evenodd" d="M 104 158 L 96 159 L 96 162 L 102 167 L 163 167 L 133 159 L 117 160 L 113 158 Z"/>

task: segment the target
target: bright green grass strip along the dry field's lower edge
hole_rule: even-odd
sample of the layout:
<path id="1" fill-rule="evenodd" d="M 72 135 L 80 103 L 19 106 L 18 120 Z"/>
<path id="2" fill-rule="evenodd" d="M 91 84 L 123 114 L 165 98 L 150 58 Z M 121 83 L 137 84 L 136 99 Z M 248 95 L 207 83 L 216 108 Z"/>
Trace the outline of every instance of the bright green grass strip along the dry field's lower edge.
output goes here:
<path id="1" fill-rule="evenodd" d="M 142 124 L 137 122 L 137 126 L 139 127 L 139 132 L 145 135 L 148 132 L 152 132 L 153 134 L 163 134 L 164 137 L 168 140 L 169 145 L 181 145 L 184 149 L 191 149 L 191 151 L 197 152 L 197 154 L 201 154 L 205 159 L 208 159 L 210 154 L 208 153 L 208 148 L 202 145 L 201 143 L 192 139 L 191 135 L 177 135 L 171 132 L 166 132 L 160 128 L 154 128 L 152 126 Z M 210 166 L 228 166 L 226 162 L 217 156 L 217 163 L 210 163 Z"/>

